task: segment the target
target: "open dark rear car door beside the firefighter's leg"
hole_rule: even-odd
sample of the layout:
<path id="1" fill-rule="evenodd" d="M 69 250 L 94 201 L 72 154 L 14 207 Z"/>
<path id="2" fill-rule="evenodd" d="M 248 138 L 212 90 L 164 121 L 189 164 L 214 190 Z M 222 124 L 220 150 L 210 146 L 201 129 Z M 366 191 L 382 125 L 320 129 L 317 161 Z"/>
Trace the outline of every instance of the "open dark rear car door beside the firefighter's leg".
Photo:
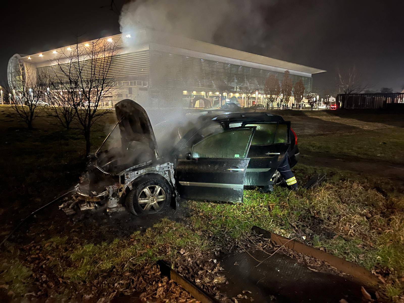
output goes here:
<path id="1" fill-rule="evenodd" d="M 244 184 L 252 186 L 265 186 L 286 156 L 290 145 L 290 122 L 272 122 L 250 124 L 256 126 L 252 138 Z"/>

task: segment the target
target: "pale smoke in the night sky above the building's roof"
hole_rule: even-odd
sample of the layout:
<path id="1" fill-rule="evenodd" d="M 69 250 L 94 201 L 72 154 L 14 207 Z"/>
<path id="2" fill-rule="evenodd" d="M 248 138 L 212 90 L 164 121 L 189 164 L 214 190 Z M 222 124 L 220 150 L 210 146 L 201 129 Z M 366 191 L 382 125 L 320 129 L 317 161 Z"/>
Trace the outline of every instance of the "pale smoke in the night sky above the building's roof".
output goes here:
<path id="1" fill-rule="evenodd" d="M 143 27 L 205 42 L 261 44 L 265 12 L 277 0 L 136 0 L 120 15 L 122 33 Z"/>

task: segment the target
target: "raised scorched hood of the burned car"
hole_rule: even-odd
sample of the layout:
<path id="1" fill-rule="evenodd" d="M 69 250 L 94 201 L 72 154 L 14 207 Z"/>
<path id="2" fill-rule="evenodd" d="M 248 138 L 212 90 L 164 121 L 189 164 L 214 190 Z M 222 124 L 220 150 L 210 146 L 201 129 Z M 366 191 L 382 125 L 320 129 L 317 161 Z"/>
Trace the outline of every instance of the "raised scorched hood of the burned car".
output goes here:
<path id="1" fill-rule="evenodd" d="M 147 143 L 156 157 L 158 147 L 149 116 L 141 105 L 130 99 L 115 104 L 116 118 L 119 121 L 122 150 L 127 149 L 132 141 Z"/>

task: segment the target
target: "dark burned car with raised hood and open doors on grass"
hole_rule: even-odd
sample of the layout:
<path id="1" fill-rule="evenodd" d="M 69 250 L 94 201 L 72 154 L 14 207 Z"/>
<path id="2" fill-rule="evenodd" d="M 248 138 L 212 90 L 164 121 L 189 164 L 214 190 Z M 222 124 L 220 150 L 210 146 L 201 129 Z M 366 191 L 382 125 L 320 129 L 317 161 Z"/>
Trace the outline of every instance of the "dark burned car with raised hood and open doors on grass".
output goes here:
<path id="1" fill-rule="evenodd" d="M 204 115 L 160 154 L 145 109 L 125 99 L 115 105 L 120 146 L 90 156 L 76 186 L 78 199 L 124 206 L 135 215 L 177 207 L 180 199 L 242 202 L 244 186 L 265 186 L 282 159 L 299 157 L 290 122 L 264 112 Z M 178 132 L 179 133 L 179 132 Z"/>

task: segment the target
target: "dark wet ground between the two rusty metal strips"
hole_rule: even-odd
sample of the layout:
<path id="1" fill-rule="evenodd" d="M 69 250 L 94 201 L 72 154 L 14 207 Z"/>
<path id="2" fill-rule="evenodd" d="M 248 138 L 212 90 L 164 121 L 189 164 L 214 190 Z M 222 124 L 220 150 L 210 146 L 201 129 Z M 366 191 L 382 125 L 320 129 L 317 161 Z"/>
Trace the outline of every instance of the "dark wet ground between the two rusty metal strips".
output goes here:
<path id="1" fill-rule="evenodd" d="M 268 258 L 260 250 L 243 252 L 225 256 L 220 264 L 228 281 L 221 290 L 228 297 L 246 296 L 262 303 L 323 303 L 340 299 L 362 302 L 360 285 L 348 277 L 318 272 L 281 253 Z"/>

